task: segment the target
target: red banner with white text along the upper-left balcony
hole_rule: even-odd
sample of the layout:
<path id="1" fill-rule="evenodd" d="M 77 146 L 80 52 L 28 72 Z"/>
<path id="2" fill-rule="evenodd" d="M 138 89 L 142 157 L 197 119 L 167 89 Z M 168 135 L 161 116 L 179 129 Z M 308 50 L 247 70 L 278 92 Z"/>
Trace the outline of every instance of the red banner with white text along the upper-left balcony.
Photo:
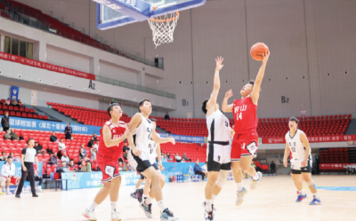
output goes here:
<path id="1" fill-rule="evenodd" d="M 59 73 L 63 73 L 66 75 L 72 75 L 72 76 L 77 76 L 77 77 L 81 77 L 81 78 L 85 78 L 85 79 L 95 80 L 95 75 L 93 75 L 93 74 L 88 74 L 85 72 L 73 70 L 73 69 L 70 69 L 67 67 L 59 67 L 59 66 L 51 65 L 51 64 L 48 64 L 48 63 L 45 63 L 42 61 L 34 60 L 34 59 L 26 59 L 26 58 L 23 58 L 20 56 L 16 56 L 16 55 L 4 53 L 4 52 L 0 52 L 0 59 L 6 59 L 6 60 L 20 63 L 22 65 L 47 69 L 49 71 L 59 72 Z"/>

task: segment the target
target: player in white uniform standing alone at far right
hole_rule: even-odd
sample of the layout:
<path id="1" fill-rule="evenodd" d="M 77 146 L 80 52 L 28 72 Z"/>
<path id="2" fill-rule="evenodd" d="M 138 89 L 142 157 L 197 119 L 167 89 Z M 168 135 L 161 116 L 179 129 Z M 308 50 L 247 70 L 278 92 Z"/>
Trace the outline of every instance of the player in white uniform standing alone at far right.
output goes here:
<path id="1" fill-rule="evenodd" d="M 286 134 L 286 150 L 284 152 L 283 164 L 287 167 L 287 158 L 290 152 L 293 153 L 293 159 L 290 160 L 290 168 L 295 187 L 298 190 L 296 202 L 306 198 L 303 191 L 303 180 L 308 184 L 313 194 L 311 205 L 320 205 L 321 201 L 317 193 L 317 186 L 312 181 L 312 155 L 311 146 L 305 133 L 298 129 L 299 120 L 295 117 L 289 118 L 289 131 Z"/>

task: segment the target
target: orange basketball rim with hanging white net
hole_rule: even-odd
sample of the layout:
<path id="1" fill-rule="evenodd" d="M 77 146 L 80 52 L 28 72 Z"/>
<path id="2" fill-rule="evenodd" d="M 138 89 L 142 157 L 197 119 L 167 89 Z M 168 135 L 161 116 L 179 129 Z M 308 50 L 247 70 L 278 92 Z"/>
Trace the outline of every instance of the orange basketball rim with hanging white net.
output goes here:
<path id="1" fill-rule="evenodd" d="M 156 48 L 161 43 L 172 43 L 174 28 L 179 19 L 179 12 L 169 13 L 150 19 L 150 29 L 152 30 L 153 43 Z"/>

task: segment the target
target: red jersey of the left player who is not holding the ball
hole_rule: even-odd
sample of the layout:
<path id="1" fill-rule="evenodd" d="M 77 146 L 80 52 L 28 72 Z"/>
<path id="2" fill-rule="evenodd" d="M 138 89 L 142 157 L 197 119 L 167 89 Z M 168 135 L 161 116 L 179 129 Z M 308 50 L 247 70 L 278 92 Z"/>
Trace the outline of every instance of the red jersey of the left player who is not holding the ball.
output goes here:
<path id="1" fill-rule="evenodd" d="M 125 122 L 120 121 L 118 127 L 112 124 L 110 121 L 105 122 L 104 126 L 105 125 L 109 126 L 109 129 L 111 130 L 112 139 L 120 138 L 125 133 Z M 102 128 L 100 130 L 101 135 L 102 135 Z M 98 162 L 101 161 L 102 158 L 105 159 L 109 158 L 114 161 L 117 161 L 121 157 L 123 146 L 124 146 L 124 141 L 117 144 L 117 146 L 111 146 L 111 147 L 105 146 L 104 139 L 101 136 L 99 147 L 98 147 L 98 154 L 97 154 Z"/>

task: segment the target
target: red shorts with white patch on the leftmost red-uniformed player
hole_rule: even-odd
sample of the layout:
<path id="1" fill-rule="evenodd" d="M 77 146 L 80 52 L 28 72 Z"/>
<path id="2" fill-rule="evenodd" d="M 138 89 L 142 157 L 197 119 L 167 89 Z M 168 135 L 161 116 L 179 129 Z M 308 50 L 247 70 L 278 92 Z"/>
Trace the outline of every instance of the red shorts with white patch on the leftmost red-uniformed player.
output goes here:
<path id="1" fill-rule="evenodd" d="M 111 158 L 98 159 L 98 166 L 102 172 L 101 182 L 110 182 L 111 179 L 120 176 L 118 171 L 118 160 Z"/>

